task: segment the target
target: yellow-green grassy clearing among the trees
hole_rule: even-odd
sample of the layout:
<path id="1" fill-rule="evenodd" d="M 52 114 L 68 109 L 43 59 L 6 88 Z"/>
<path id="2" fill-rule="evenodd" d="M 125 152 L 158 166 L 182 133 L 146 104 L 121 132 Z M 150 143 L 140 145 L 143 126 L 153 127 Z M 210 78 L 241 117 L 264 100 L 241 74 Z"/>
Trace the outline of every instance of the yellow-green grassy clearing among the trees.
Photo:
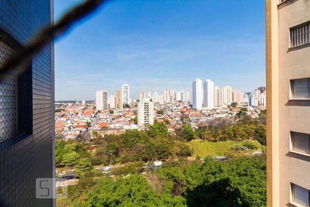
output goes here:
<path id="1" fill-rule="evenodd" d="M 194 153 L 193 156 L 196 157 L 206 157 L 206 156 L 223 156 L 235 145 L 242 146 L 240 141 L 218 141 L 210 142 L 194 139 L 189 141 L 190 146 L 192 146 Z M 258 149 L 260 150 L 260 149 Z"/>

